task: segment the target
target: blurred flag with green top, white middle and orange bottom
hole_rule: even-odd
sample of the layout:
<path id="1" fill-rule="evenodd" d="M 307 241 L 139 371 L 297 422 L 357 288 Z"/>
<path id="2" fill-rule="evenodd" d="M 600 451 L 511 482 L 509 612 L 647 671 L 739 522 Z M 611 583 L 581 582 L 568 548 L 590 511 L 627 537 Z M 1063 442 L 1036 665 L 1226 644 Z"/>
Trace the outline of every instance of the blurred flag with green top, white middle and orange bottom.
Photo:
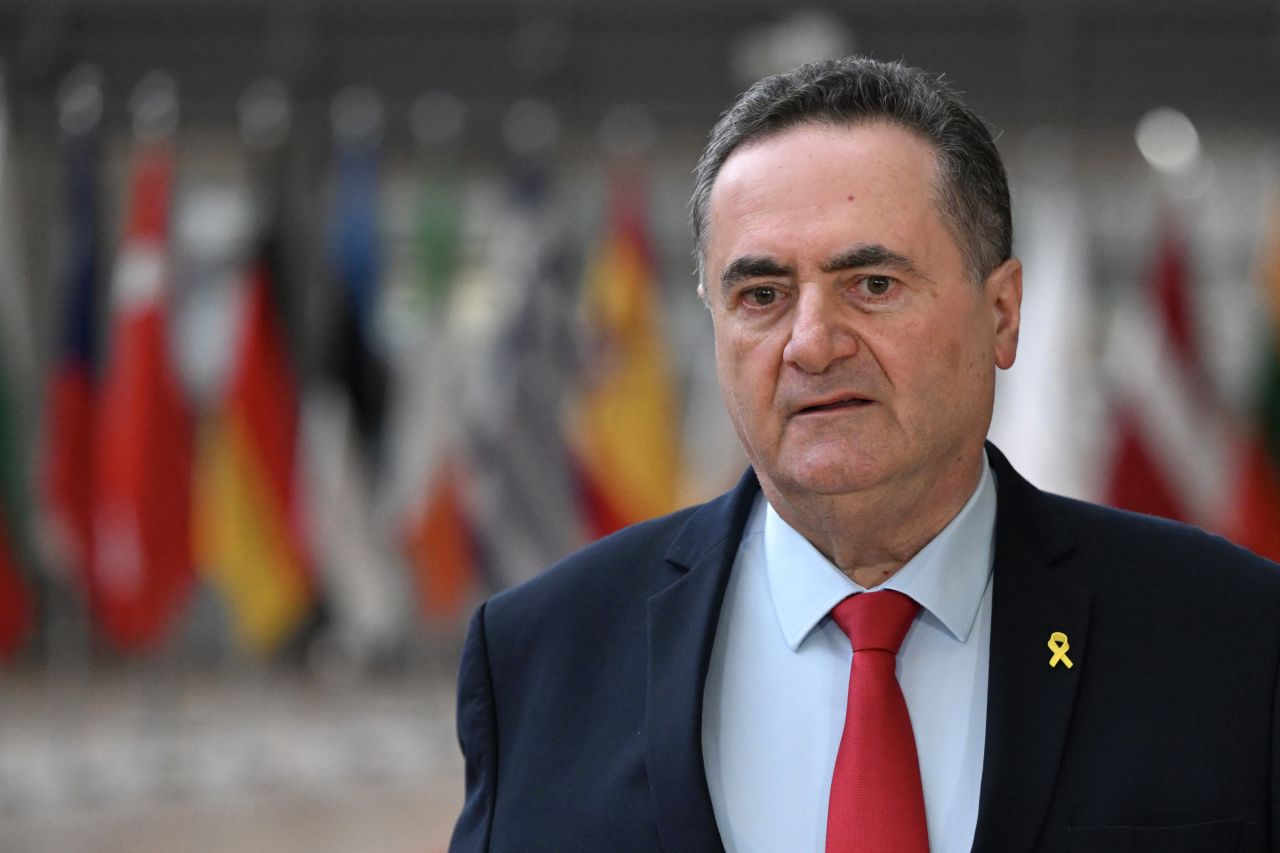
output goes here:
<path id="1" fill-rule="evenodd" d="M 444 625 L 462 616 L 477 571 L 458 418 L 460 374 L 471 348 L 453 298 L 461 240 L 461 199 L 453 174 L 436 163 L 424 169 L 412 284 L 402 300 L 402 311 L 412 318 L 411 341 L 396 364 L 389 437 L 396 460 L 394 524 L 422 616 Z"/>

